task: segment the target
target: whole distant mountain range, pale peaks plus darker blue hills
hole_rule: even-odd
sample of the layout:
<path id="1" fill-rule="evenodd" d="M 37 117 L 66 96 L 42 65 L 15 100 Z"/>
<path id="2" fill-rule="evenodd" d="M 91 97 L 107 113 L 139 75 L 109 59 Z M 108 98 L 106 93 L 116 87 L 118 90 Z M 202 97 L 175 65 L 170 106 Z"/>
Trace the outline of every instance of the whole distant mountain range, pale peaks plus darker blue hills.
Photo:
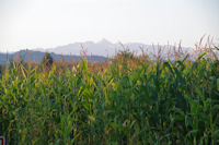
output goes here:
<path id="1" fill-rule="evenodd" d="M 152 55 L 158 52 L 159 48 L 162 48 L 162 55 L 165 55 L 173 46 L 159 46 L 159 45 L 145 45 L 140 43 L 128 43 L 128 44 L 113 44 L 106 39 L 102 39 L 101 41 L 85 41 L 85 43 L 74 43 L 64 46 L 58 46 L 55 48 L 36 48 L 33 50 L 20 50 L 13 53 L 0 53 L 0 63 L 5 63 L 7 59 L 14 60 L 18 56 L 22 58 L 24 61 L 35 61 L 41 62 L 45 52 L 50 52 L 55 60 L 60 60 L 61 56 L 66 61 L 79 61 L 81 59 L 81 53 L 87 52 L 88 56 L 92 55 L 93 61 L 105 61 L 107 57 L 115 56 L 119 50 L 128 49 L 129 51 L 134 51 L 137 55 L 141 52 L 140 48 L 147 49 L 148 55 Z M 191 48 L 183 47 L 182 50 L 184 52 L 192 51 Z M 88 61 L 91 61 L 91 58 L 88 57 Z"/>

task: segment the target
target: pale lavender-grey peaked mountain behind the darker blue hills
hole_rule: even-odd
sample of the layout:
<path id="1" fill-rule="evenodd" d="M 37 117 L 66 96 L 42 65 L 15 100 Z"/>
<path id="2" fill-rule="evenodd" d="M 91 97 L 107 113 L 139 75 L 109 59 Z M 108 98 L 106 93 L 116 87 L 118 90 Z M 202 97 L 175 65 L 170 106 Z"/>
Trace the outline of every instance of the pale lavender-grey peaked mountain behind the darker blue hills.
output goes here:
<path id="1" fill-rule="evenodd" d="M 159 45 L 146 45 L 141 43 L 128 43 L 128 44 L 122 44 L 116 43 L 113 44 L 106 39 L 102 39 L 101 41 L 93 43 L 93 41 L 85 41 L 85 43 L 74 43 L 64 46 L 58 46 L 56 48 L 49 48 L 49 49 L 43 49 L 38 48 L 35 50 L 38 51 L 47 51 L 47 52 L 54 52 L 57 55 L 76 55 L 80 56 L 81 50 L 85 50 L 87 55 L 94 55 L 94 56 L 114 56 L 117 51 L 129 49 L 130 51 L 135 51 L 139 53 L 141 51 L 141 48 L 147 49 L 149 53 L 154 52 L 158 48 L 163 48 L 163 51 L 168 51 L 168 48 L 173 46 L 159 46 Z M 184 51 L 191 51 L 189 48 L 183 48 Z"/>

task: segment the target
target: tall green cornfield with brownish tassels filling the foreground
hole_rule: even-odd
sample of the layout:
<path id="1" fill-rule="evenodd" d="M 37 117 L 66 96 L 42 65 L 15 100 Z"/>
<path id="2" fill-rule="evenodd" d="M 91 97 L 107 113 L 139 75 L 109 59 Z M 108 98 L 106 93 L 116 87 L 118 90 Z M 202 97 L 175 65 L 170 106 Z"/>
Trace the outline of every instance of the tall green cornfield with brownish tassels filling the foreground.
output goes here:
<path id="1" fill-rule="evenodd" d="M 0 135 L 21 145 L 219 144 L 217 56 L 155 58 L 7 64 Z"/>

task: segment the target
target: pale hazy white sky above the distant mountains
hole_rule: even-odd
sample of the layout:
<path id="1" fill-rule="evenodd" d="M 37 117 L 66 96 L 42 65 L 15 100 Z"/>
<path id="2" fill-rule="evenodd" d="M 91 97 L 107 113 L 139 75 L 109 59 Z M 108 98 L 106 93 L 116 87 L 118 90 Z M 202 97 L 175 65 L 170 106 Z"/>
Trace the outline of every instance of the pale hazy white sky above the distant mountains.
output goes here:
<path id="1" fill-rule="evenodd" d="M 112 43 L 219 41 L 219 0 L 0 0 L 0 51 Z"/>

